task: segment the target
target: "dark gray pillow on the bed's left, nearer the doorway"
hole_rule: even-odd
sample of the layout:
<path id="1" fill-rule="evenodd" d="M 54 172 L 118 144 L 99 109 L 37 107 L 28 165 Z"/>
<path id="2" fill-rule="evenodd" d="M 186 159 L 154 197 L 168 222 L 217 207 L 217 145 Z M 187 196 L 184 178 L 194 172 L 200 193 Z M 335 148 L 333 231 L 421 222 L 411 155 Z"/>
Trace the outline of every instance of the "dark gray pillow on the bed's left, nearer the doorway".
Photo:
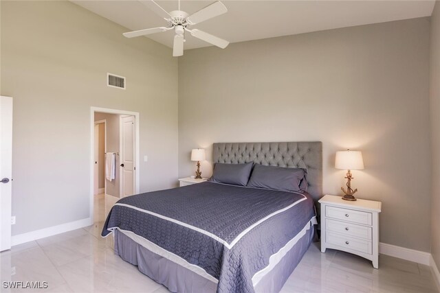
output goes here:
<path id="1" fill-rule="evenodd" d="M 245 164 L 216 163 L 210 180 L 218 183 L 246 186 L 253 165 L 252 162 Z"/>

